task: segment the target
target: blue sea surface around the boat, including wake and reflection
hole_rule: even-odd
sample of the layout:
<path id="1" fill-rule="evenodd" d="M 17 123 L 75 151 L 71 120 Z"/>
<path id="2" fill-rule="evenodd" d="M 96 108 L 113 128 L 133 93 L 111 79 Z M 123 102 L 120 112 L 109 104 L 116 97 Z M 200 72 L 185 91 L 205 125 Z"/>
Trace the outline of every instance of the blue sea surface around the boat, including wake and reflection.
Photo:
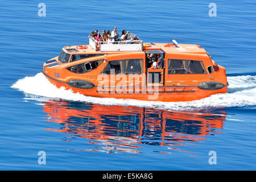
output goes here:
<path id="1" fill-rule="evenodd" d="M 0 2 L 1 170 L 256 169 L 255 1 L 44 0 L 46 16 L 39 3 Z M 49 84 L 44 61 L 113 26 L 145 42 L 200 45 L 226 68 L 228 93 L 138 102 Z"/>

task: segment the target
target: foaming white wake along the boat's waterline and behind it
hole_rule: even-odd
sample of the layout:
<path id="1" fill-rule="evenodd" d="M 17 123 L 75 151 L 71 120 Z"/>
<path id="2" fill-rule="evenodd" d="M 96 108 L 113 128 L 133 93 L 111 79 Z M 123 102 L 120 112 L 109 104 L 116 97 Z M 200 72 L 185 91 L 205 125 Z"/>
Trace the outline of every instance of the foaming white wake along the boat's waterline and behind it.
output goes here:
<path id="1" fill-rule="evenodd" d="M 35 100 L 40 98 L 55 98 L 71 101 L 92 102 L 103 105 L 131 105 L 139 107 L 154 107 L 166 110 L 191 110 L 207 107 L 243 107 L 256 105 L 256 76 L 232 76 L 228 77 L 228 93 L 214 94 L 210 97 L 191 102 L 155 102 L 122 100 L 115 98 L 97 98 L 73 93 L 64 88 L 57 89 L 52 85 L 43 73 L 32 77 L 24 77 L 15 82 L 11 88 L 26 93 L 27 97 Z M 29 95 L 29 96 L 28 96 Z"/>

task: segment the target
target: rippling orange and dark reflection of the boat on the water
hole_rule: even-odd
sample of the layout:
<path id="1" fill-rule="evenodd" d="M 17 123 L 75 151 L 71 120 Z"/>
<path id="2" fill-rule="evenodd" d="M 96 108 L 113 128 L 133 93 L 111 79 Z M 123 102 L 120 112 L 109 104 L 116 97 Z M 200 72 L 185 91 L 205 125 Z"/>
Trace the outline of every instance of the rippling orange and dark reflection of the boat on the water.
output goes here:
<path id="1" fill-rule="evenodd" d="M 221 133 L 216 130 L 222 129 L 226 118 L 225 112 L 195 114 L 62 100 L 44 102 L 42 107 L 46 121 L 62 125 L 59 130 L 46 130 L 68 133 L 71 139 L 86 138 L 85 142 L 95 147 L 85 151 L 140 153 L 148 144 L 167 146 L 156 152 L 168 153 Z"/>

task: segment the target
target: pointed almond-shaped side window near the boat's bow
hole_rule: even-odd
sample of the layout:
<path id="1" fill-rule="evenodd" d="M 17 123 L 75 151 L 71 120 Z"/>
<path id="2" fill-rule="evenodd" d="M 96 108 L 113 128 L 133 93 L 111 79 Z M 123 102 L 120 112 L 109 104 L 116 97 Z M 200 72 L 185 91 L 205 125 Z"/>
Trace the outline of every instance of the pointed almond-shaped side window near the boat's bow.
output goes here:
<path id="1" fill-rule="evenodd" d="M 89 71 L 92 71 L 93 69 L 96 69 L 101 63 L 103 63 L 103 61 L 104 60 L 90 61 L 86 63 L 73 65 L 72 67 L 68 67 L 66 69 L 73 73 L 87 73 Z"/>

